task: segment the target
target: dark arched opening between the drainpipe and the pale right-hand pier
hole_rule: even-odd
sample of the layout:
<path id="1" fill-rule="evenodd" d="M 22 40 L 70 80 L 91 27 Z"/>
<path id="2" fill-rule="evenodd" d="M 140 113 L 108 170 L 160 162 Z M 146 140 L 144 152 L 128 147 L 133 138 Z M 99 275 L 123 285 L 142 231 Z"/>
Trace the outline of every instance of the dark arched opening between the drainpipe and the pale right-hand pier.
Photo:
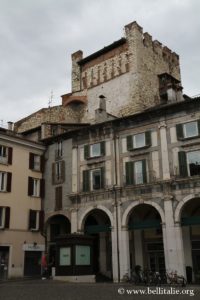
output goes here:
<path id="1" fill-rule="evenodd" d="M 149 204 L 135 206 L 128 216 L 130 269 L 139 265 L 165 272 L 163 235 L 159 212 Z"/>

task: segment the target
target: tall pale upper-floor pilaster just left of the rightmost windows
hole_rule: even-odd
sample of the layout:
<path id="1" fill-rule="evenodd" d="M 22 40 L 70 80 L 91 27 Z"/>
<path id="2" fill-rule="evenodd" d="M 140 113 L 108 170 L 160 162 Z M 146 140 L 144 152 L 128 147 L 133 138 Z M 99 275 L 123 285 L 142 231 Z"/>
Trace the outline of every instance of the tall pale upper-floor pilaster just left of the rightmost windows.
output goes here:
<path id="1" fill-rule="evenodd" d="M 161 159 L 162 159 L 162 172 L 163 179 L 170 179 L 170 170 L 169 170 L 169 156 L 168 156 L 168 147 L 167 147 L 167 131 L 166 131 L 165 122 L 160 122 L 160 146 L 161 146 Z"/>

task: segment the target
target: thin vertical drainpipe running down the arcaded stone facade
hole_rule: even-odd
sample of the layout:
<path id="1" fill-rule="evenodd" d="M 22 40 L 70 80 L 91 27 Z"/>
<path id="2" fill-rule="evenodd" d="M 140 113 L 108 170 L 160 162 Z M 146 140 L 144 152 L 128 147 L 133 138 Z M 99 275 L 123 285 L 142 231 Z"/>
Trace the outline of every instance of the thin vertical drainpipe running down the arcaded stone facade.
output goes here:
<path id="1" fill-rule="evenodd" d="M 117 174 L 117 143 L 116 143 L 116 134 L 114 132 L 114 157 L 115 157 L 115 185 L 113 185 L 113 191 L 115 193 L 115 208 L 116 208 L 116 233 L 117 233 L 117 278 L 120 282 L 120 258 L 119 258 L 119 214 L 118 214 L 118 201 L 117 201 L 117 189 L 118 184 L 118 174 Z"/>

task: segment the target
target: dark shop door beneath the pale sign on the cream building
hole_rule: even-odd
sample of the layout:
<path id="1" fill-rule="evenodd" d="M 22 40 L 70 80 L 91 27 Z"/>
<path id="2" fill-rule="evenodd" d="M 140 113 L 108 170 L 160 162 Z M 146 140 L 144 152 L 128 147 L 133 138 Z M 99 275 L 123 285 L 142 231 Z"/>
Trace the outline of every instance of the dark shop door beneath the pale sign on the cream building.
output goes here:
<path id="1" fill-rule="evenodd" d="M 41 256 L 40 251 L 25 251 L 24 276 L 41 275 Z"/>

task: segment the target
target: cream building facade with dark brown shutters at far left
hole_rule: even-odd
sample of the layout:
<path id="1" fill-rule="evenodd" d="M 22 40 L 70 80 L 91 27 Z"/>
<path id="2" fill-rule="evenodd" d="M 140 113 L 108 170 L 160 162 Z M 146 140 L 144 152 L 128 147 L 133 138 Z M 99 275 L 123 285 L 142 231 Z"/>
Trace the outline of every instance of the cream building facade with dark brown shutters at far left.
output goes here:
<path id="1" fill-rule="evenodd" d="M 41 273 L 44 150 L 0 128 L 0 279 Z"/>

